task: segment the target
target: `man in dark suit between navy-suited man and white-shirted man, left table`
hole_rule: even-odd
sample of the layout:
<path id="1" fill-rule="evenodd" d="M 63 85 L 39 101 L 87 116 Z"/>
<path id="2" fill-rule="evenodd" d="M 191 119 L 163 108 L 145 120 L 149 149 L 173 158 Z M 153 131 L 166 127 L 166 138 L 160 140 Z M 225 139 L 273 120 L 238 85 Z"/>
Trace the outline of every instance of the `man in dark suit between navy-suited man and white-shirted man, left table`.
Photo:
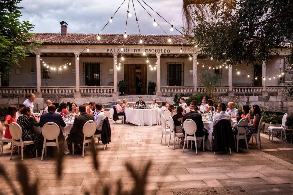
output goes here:
<path id="1" fill-rule="evenodd" d="M 72 128 L 67 138 L 67 144 L 68 144 L 69 150 L 72 150 L 72 143 L 74 143 L 74 150 L 76 150 L 76 153 L 81 154 L 82 153 L 81 148 L 82 148 L 83 138 L 84 138 L 84 134 L 82 133 L 82 128 L 86 122 L 88 122 L 89 120 L 94 120 L 94 116 L 86 113 L 85 105 L 79 106 L 79 111 L 81 112 L 81 115 L 74 119 Z M 80 144 L 81 147 L 79 147 L 77 144 Z"/>

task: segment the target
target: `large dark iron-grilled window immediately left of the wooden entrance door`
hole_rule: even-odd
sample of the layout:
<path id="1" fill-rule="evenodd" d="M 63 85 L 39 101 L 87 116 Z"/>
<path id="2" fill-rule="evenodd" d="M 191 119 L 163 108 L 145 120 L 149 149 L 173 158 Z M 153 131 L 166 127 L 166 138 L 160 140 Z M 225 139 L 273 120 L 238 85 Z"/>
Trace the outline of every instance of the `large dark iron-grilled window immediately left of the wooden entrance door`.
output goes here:
<path id="1" fill-rule="evenodd" d="M 101 62 L 83 62 L 84 86 L 101 86 Z"/>

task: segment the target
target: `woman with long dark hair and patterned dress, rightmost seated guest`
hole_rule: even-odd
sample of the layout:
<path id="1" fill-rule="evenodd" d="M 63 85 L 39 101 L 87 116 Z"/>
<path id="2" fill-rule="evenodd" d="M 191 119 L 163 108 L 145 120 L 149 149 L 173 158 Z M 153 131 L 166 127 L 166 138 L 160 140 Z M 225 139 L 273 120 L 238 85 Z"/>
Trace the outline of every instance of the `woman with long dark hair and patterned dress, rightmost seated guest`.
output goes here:
<path id="1" fill-rule="evenodd" d="M 252 105 L 248 115 L 248 121 L 250 122 L 248 123 L 248 129 L 246 130 L 247 143 L 249 142 L 251 135 L 257 132 L 260 118 L 262 118 L 262 114 L 260 112 L 259 105 Z"/>

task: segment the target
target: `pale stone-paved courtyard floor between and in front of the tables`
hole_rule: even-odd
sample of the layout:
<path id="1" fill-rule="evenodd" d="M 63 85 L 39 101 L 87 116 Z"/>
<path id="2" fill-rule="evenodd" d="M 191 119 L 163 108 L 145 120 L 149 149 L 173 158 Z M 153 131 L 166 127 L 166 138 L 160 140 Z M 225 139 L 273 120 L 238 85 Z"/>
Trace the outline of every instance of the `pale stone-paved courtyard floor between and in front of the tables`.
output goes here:
<path id="1" fill-rule="evenodd" d="M 112 129 L 111 143 L 105 151 L 97 144 L 99 172 L 92 165 L 90 152 L 64 156 L 62 179 L 56 179 L 56 161 L 51 157 L 24 158 L 30 181 L 39 179 L 40 194 L 83 194 L 85 191 L 102 194 L 102 186 L 130 190 L 134 181 L 126 162 L 137 172 L 150 160 L 152 166 L 147 178 L 146 194 L 293 194 L 293 165 L 265 151 L 250 146 L 239 153 L 214 154 L 212 151 L 187 149 L 182 153 L 178 143 L 175 150 L 161 144 L 158 126 L 134 126 L 118 123 Z M 266 139 L 266 138 L 263 138 Z M 277 139 L 276 139 L 277 140 Z M 172 140 L 171 140 L 172 143 Z M 251 144 L 251 143 L 250 143 Z M 278 149 L 280 150 L 280 149 Z M 0 163 L 8 172 L 17 191 L 15 164 L 20 155 L 9 160 L 9 146 L 5 145 Z M 11 194 L 8 183 L 0 178 L 0 192 Z"/>

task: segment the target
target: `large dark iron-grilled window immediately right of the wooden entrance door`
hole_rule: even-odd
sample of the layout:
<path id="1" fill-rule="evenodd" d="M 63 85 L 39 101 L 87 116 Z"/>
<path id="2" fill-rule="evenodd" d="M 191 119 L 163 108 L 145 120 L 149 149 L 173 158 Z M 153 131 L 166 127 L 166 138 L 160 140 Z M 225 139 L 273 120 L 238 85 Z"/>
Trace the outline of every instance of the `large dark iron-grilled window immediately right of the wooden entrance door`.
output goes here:
<path id="1" fill-rule="evenodd" d="M 168 86 L 184 86 L 184 63 L 167 63 Z"/>

